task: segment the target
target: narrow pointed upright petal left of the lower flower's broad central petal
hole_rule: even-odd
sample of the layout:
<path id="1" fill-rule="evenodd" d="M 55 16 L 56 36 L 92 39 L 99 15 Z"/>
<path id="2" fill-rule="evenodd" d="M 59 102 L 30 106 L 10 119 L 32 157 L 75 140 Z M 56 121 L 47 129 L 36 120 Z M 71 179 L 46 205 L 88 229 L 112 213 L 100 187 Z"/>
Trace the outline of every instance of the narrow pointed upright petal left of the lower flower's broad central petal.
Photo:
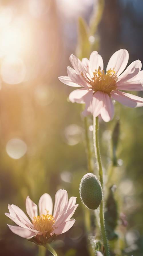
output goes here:
<path id="1" fill-rule="evenodd" d="M 33 220 L 33 217 L 38 215 L 38 210 L 37 210 L 37 204 L 35 204 L 29 196 L 26 198 L 26 211 L 31 220 Z"/>

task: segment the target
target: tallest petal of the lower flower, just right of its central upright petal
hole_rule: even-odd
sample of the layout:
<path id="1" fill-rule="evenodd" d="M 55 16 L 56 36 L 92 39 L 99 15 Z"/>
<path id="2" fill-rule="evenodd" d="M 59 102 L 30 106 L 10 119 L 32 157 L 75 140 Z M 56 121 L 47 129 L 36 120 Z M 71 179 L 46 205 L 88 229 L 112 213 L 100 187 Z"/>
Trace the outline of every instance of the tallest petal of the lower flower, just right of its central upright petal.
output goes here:
<path id="1" fill-rule="evenodd" d="M 56 220 L 59 215 L 63 212 L 66 204 L 67 204 L 67 191 L 64 189 L 59 189 L 55 194 L 55 206 L 53 217 Z"/>

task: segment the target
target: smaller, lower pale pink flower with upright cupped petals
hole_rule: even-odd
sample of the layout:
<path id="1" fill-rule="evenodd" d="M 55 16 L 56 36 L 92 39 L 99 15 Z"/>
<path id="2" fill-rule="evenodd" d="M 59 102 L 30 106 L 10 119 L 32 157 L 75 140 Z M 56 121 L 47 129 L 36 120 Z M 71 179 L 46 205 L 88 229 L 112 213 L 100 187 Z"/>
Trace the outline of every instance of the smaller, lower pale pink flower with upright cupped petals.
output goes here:
<path id="1" fill-rule="evenodd" d="M 10 230 L 23 238 L 33 238 L 38 244 L 45 243 L 53 235 L 59 235 L 69 230 L 75 222 L 71 219 L 76 211 L 76 197 L 67 196 L 67 191 L 59 189 L 55 194 L 55 206 L 49 194 L 43 194 L 39 199 L 39 216 L 37 205 L 27 196 L 27 215 L 16 205 L 8 205 L 9 213 L 7 217 L 12 219 L 18 226 L 8 225 Z M 53 211 L 53 215 L 52 215 Z"/>

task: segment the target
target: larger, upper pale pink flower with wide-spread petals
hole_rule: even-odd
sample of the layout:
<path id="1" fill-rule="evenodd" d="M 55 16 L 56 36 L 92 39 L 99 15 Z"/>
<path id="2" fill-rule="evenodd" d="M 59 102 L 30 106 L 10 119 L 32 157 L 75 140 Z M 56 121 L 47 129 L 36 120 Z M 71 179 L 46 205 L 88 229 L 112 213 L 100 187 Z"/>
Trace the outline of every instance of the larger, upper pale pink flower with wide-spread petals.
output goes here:
<path id="1" fill-rule="evenodd" d="M 127 107 L 143 106 L 143 98 L 121 91 L 143 90 L 141 61 L 132 62 L 124 71 L 129 59 L 127 50 L 121 49 L 111 56 L 106 73 L 103 59 L 96 51 L 91 53 L 89 60 L 80 61 L 73 54 L 69 59 L 74 69 L 67 67 L 68 76 L 59 77 L 59 80 L 69 86 L 83 87 L 71 92 L 69 100 L 86 104 L 84 116 L 91 113 L 94 117 L 101 115 L 105 122 L 110 121 L 114 116 L 112 99 Z"/>

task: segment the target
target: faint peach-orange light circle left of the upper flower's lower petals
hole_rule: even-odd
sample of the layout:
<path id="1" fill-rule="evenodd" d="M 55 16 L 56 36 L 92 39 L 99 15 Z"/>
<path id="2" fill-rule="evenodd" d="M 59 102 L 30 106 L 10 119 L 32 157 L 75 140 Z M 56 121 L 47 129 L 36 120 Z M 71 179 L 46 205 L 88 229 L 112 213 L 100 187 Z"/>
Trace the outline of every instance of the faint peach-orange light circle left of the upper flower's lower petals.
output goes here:
<path id="1" fill-rule="evenodd" d="M 40 85 L 35 89 L 35 100 L 41 106 L 49 105 L 54 99 L 54 91 L 48 85 Z"/>

